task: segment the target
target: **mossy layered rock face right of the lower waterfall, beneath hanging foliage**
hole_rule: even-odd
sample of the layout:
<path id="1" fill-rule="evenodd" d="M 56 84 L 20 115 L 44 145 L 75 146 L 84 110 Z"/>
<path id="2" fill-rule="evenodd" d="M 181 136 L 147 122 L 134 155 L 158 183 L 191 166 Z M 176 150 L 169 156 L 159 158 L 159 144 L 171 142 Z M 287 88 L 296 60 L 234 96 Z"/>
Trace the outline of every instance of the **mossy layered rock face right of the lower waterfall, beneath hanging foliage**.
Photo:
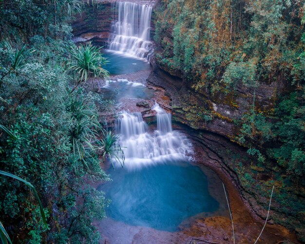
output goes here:
<path id="1" fill-rule="evenodd" d="M 248 113 L 253 105 L 261 111 L 268 111 L 274 106 L 276 97 L 284 89 L 284 84 L 262 84 L 256 91 L 240 85 L 234 94 L 213 94 L 209 91 L 198 93 L 192 88 L 192 83 L 182 78 L 182 75 L 172 70 L 154 65 L 148 83 L 164 88 L 172 97 L 171 107 L 173 119 L 187 124 L 194 129 L 205 129 L 234 138 L 240 128 L 235 121 Z"/>

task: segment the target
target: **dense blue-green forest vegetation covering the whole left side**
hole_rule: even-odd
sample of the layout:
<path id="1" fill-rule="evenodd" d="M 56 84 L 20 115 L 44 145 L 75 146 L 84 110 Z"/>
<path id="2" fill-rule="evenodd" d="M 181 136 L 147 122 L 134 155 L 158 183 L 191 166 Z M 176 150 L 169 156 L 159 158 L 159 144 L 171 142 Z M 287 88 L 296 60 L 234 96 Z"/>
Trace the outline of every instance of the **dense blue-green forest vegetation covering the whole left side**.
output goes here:
<path id="1" fill-rule="evenodd" d="M 90 4 L 0 1 L 0 170 L 33 184 L 48 223 L 34 191 L 1 175 L 0 221 L 13 243 L 99 240 L 92 222 L 105 216 L 108 202 L 84 181 L 108 180 L 101 161 L 119 149 L 117 136 L 99 123 L 111 104 L 79 88 L 108 76 L 98 48 L 71 41 L 71 14 Z"/>

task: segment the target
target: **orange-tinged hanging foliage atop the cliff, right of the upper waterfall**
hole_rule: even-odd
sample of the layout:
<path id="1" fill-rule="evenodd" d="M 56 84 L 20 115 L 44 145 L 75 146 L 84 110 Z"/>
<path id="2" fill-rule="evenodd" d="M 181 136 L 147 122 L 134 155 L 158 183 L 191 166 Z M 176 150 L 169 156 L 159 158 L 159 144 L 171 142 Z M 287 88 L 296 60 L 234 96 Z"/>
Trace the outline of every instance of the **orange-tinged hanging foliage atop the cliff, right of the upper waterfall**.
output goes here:
<path id="1" fill-rule="evenodd" d="M 238 84 L 255 87 L 262 80 L 292 83 L 303 75 L 301 2 L 162 3 L 156 10 L 154 37 L 162 55 L 156 60 L 173 60 L 175 70 L 197 91 L 222 92 Z"/>

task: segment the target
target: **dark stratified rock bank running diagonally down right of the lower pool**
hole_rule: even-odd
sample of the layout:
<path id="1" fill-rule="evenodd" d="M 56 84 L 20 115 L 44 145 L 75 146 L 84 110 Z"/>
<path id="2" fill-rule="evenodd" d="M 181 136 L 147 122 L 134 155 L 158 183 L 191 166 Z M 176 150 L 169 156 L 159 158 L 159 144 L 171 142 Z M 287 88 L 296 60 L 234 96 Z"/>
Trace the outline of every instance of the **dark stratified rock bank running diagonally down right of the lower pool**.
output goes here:
<path id="1" fill-rule="evenodd" d="M 158 86 L 165 89 L 165 93 L 171 100 L 170 103 L 162 104 L 164 108 L 172 113 L 173 120 L 177 123 L 177 128 L 186 125 L 187 133 L 194 139 L 197 146 L 210 150 L 209 153 L 199 153 L 196 161 L 202 162 L 211 169 L 214 169 L 218 174 L 222 175 L 222 179 L 233 183 L 236 191 L 240 195 L 243 205 L 247 206 L 255 221 L 262 222 L 267 216 L 267 204 L 269 202 L 272 186 L 275 185 L 275 194 L 273 195 L 273 205 L 271 207 L 272 214 L 269 217 L 268 224 L 281 223 L 285 226 L 297 226 L 298 221 L 292 216 L 289 216 L 283 210 L 283 206 L 279 204 L 281 201 L 281 192 L 277 189 L 280 184 L 274 173 L 274 169 L 269 165 L 263 167 L 257 166 L 257 159 L 247 153 L 247 149 L 230 141 L 228 134 L 225 131 L 236 131 L 234 127 L 229 126 L 230 123 L 225 123 L 223 119 L 214 119 L 208 127 L 206 123 L 200 120 L 201 125 L 190 114 L 198 114 L 197 107 L 184 107 L 186 102 L 192 103 L 194 100 L 204 103 L 205 100 L 196 97 L 196 94 L 191 94 L 190 90 L 184 84 L 183 80 L 174 77 L 155 66 L 148 78 L 148 84 Z M 186 94 L 186 95 L 182 95 Z M 186 96 L 188 99 L 185 100 Z M 190 127 L 192 129 L 190 129 Z M 209 132 L 210 131 L 210 132 Z M 229 138 L 228 138 L 229 137 Z M 196 147 L 198 148 L 198 147 Z M 202 157 L 205 160 L 200 160 Z M 215 159 L 217 158 L 217 159 Z M 285 175 L 285 172 L 277 172 Z M 229 178 L 229 180 L 228 180 Z M 287 189 L 293 192 L 293 189 Z M 298 200 L 301 201 L 301 200 Z M 240 209 L 240 207 L 238 208 Z M 300 215 L 301 217 L 302 215 Z M 302 217 L 301 217 L 302 218 Z M 298 236 L 302 239 L 304 232 L 302 229 L 296 229 Z"/>

